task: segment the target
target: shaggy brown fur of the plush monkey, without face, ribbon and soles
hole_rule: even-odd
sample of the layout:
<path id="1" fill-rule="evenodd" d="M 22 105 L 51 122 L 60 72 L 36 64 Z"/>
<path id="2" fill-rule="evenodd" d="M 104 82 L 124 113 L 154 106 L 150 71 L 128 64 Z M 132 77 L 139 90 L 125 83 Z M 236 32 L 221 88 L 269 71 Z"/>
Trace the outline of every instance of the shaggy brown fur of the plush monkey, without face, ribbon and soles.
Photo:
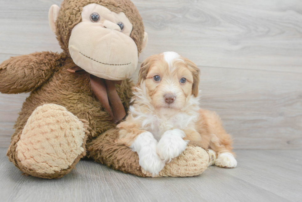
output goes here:
<path id="1" fill-rule="evenodd" d="M 11 145 L 7 151 L 9 160 L 27 175 L 40 178 L 60 178 L 69 173 L 85 155 L 85 153 L 79 155 L 71 166 L 55 172 L 55 174 L 39 174 L 20 164 L 16 147 L 27 119 L 38 106 L 48 103 L 65 107 L 85 124 L 87 137 L 83 142 L 83 147 L 86 147 L 85 142 L 87 142 L 88 157 L 114 169 L 145 176 L 137 162 L 137 154 L 126 146 L 115 145 L 113 142 L 116 138 L 115 134 L 112 137 L 110 132 L 104 134 L 105 131 L 114 128 L 116 124 L 93 94 L 89 74 L 87 72 L 71 74 L 67 71 L 68 68 L 76 66 L 68 52 L 71 30 L 80 22 L 83 6 L 89 3 L 98 3 L 114 12 L 124 12 L 133 24 L 130 37 L 137 44 L 138 52 L 141 51 L 144 27 L 141 16 L 130 0 L 64 0 L 55 22 L 57 39 L 63 52 L 60 54 L 36 52 L 12 57 L 0 64 L 1 93 L 31 92 L 23 103 L 20 116 L 14 126 L 16 131 L 12 135 Z M 133 96 L 132 87 L 133 83 L 129 79 L 123 80 L 121 85 L 116 85 L 117 93 L 126 111 L 129 108 L 130 98 Z M 101 134 L 102 136 L 100 136 Z M 98 139 L 93 140 L 98 136 Z M 198 171 L 199 173 L 200 171 Z"/>

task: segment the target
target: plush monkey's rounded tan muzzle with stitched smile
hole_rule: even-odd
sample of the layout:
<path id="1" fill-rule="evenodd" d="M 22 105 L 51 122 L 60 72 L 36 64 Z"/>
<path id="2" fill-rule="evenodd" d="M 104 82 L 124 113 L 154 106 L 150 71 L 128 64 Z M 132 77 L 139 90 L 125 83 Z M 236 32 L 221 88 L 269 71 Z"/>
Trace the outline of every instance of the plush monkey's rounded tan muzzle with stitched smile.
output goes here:
<path id="1" fill-rule="evenodd" d="M 77 66 L 99 78 L 124 80 L 137 68 L 138 53 L 133 39 L 98 23 L 76 25 L 68 48 Z"/>

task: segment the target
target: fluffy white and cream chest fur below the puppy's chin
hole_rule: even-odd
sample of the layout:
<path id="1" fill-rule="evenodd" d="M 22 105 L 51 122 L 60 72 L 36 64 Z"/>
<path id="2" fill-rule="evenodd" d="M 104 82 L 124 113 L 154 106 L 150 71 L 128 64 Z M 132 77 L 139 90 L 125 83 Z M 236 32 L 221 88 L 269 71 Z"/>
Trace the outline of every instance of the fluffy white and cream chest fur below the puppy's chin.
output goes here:
<path id="1" fill-rule="evenodd" d="M 199 97 L 190 96 L 183 109 L 160 108 L 156 109 L 146 96 L 146 88 L 137 88 L 134 92 L 135 104 L 129 108 L 129 116 L 133 122 L 140 125 L 141 130 L 151 132 L 155 139 L 159 140 L 161 135 L 171 129 L 194 129 L 199 113 Z"/>

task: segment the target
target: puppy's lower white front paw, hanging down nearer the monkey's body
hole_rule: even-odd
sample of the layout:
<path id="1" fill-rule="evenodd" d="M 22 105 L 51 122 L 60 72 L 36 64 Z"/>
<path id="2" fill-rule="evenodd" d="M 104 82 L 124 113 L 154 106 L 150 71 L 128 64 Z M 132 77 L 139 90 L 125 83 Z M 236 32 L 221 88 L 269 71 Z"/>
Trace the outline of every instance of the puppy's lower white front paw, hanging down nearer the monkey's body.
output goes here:
<path id="1" fill-rule="evenodd" d="M 139 155 L 139 164 L 145 170 L 150 172 L 153 176 L 158 175 L 165 163 L 161 161 L 156 152 L 150 152 L 150 150 L 141 150 Z"/>

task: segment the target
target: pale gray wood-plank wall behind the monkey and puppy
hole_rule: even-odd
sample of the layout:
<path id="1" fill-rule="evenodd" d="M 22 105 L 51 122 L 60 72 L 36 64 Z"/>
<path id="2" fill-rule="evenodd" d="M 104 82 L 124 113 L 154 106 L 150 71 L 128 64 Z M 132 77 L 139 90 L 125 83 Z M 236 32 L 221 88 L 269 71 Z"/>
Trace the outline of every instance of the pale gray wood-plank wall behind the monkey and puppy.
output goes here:
<path id="1" fill-rule="evenodd" d="M 47 19 L 49 7 L 61 2 L 0 0 L 0 62 L 61 52 Z M 222 117 L 236 149 L 302 148 L 301 1 L 133 2 L 149 33 L 139 60 L 176 51 L 198 64 L 201 106 Z M 0 94 L 0 147 L 9 145 L 27 96 Z"/>

